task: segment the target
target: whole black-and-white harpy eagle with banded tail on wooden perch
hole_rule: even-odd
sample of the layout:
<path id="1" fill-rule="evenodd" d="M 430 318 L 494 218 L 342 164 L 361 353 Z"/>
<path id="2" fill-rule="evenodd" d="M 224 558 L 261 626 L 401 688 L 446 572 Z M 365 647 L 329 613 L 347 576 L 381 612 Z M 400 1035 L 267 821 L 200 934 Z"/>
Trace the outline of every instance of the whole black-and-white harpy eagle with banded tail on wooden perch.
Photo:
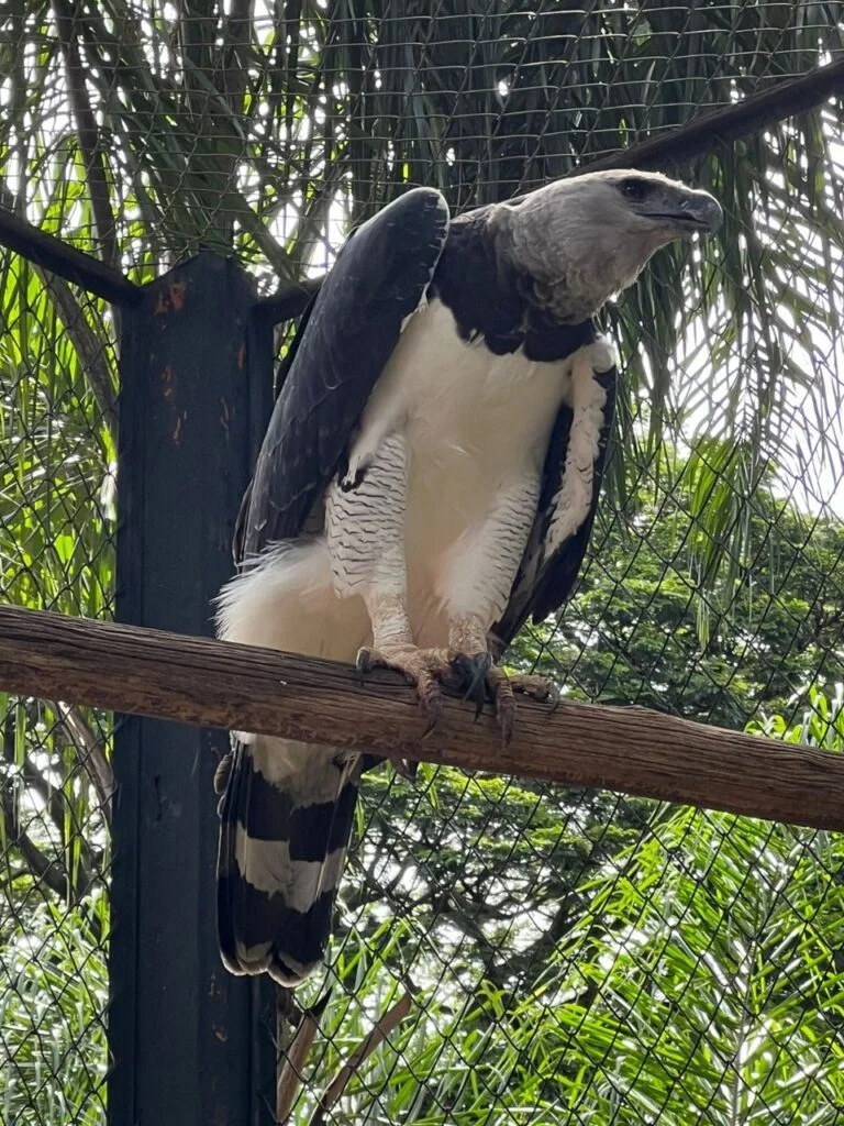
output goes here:
<path id="1" fill-rule="evenodd" d="M 718 203 L 603 171 L 456 218 L 416 188 L 341 250 L 291 347 L 244 498 L 218 634 L 385 665 L 434 718 L 443 678 L 514 691 L 490 650 L 568 596 L 612 421 L 592 318 Z M 365 757 L 235 733 L 218 929 L 234 973 L 298 984 L 325 949 Z"/>

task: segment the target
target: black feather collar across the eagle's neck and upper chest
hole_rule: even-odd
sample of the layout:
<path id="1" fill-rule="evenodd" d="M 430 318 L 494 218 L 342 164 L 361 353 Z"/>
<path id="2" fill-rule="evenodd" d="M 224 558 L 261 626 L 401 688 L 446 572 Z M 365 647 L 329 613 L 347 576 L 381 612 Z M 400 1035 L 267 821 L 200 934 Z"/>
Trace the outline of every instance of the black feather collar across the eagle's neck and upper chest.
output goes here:
<path id="1" fill-rule="evenodd" d="M 496 206 L 452 220 L 430 296 L 448 305 L 464 340 L 483 338 L 496 356 L 522 348 L 529 360 L 553 361 L 592 343 L 591 320 L 554 321 L 535 298 L 533 279 L 500 252 L 491 222 Z"/>

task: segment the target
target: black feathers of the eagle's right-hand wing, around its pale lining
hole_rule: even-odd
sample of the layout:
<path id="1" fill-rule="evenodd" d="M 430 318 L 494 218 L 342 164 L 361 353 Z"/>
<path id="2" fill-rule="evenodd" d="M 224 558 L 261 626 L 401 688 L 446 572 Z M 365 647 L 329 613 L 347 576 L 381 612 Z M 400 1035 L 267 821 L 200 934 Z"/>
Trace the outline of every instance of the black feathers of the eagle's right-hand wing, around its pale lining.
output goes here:
<path id="1" fill-rule="evenodd" d="M 618 372 L 614 367 L 594 376 L 607 392 L 603 409 L 603 426 L 598 445 L 592 479 L 592 503 L 589 516 L 573 536 L 569 536 L 547 560 L 542 557 L 545 537 L 548 534 L 554 517 L 554 498 L 559 490 L 563 465 L 572 429 L 572 410 L 563 406 L 551 434 L 548 453 L 545 458 L 542 490 L 539 498 L 537 517 L 533 521 L 528 545 L 522 557 L 519 573 L 501 620 L 492 627 L 493 635 L 506 647 L 528 618 L 535 624 L 542 622 L 549 614 L 565 602 L 572 592 L 583 558 L 589 547 L 592 525 L 598 510 L 598 500 L 603 483 L 603 471 L 612 430 L 612 419 L 616 409 L 616 381 Z"/>

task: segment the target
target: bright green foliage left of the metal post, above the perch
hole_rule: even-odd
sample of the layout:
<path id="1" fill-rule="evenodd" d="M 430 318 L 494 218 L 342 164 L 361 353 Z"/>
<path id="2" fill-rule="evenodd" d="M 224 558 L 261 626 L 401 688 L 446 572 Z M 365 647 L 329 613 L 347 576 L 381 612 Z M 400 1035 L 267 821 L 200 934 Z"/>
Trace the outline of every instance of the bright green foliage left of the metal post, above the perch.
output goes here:
<path id="1" fill-rule="evenodd" d="M 18 260 L 0 292 L 0 566 L 20 606 L 99 617 L 114 581 L 114 443 L 53 286 Z M 75 298 L 74 298 L 75 300 Z M 79 310 L 98 331 L 95 307 Z M 104 363 L 108 347 L 101 343 Z M 108 358 L 108 370 L 114 359 Z"/>

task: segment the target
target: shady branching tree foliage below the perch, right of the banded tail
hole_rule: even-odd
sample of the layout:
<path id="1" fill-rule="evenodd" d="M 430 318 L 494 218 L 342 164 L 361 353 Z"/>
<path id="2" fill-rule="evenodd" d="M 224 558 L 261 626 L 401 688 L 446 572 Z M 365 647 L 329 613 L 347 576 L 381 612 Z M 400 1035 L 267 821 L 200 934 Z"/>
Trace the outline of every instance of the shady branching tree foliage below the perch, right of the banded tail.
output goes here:
<path id="1" fill-rule="evenodd" d="M 414 981 L 447 967 L 455 982 L 501 988 L 536 972 L 575 912 L 584 873 L 639 828 L 635 802 L 433 767 L 412 792 L 387 770 L 368 776 L 361 823 L 339 933 L 383 959 L 386 900 L 406 923 L 401 964 Z M 440 969 L 421 968 L 425 950 Z"/>

